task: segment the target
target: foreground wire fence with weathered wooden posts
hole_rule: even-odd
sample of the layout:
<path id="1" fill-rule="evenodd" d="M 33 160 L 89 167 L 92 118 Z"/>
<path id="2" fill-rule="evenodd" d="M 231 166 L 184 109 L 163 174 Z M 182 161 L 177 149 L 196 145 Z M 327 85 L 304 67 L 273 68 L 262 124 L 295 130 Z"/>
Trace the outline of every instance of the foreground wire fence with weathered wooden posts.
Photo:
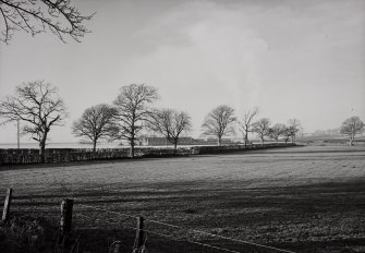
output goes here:
<path id="1" fill-rule="evenodd" d="M 3 221 L 8 219 L 4 216 L 9 216 L 11 198 L 11 194 L 10 196 L 7 194 Z M 82 202 L 74 203 L 73 200 L 62 201 L 61 214 L 60 205 L 57 203 L 47 203 L 47 206 L 38 205 L 36 208 L 32 207 L 32 203 L 22 203 L 22 206 L 26 207 L 23 208 L 25 214 L 42 214 L 51 220 L 52 226 L 59 226 L 52 236 L 52 240 L 57 242 L 56 253 L 84 251 L 108 253 L 295 253 L 291 250 L 220 236 L 187 226 L 125 214 L 108 209 L 105 206 L 83 204 Z M 69 251 L 64 251 L 64 243 L 70 244 Z"/>

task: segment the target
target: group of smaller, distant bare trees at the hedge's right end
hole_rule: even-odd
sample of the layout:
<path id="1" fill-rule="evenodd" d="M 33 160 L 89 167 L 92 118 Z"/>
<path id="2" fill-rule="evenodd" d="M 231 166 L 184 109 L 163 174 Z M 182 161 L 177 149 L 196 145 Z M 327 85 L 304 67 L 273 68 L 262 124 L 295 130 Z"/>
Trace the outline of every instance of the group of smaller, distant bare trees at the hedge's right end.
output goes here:
<path id="1" fill-rule="evenodd" d="M 290 138 L 292 143 L 295 142 L 296 133 L 301 130 L 301 122 L 297 119 L 290 119 L 288 124 L 277 123 L 270 126 L 270 119 L 261 118 L 256 121 L 259 109 L 257 107 L 248 109 L 239 120 L 234 116 L 234 109 L 230 106 L 223 105 L 212 109 L 204 119 L 202 128 L 205 135 L 212 135 L 218 138 L 218 145 L 221 145 L 223 136 L 234 135 L 236 124 L 240 132 L 243 134 L 245 146 L 250 143 L 248 135 L 257 134 L 264 144 L 265 138 L 269 137 L 279 141 L 279 137 L 287 143 Z"/>

